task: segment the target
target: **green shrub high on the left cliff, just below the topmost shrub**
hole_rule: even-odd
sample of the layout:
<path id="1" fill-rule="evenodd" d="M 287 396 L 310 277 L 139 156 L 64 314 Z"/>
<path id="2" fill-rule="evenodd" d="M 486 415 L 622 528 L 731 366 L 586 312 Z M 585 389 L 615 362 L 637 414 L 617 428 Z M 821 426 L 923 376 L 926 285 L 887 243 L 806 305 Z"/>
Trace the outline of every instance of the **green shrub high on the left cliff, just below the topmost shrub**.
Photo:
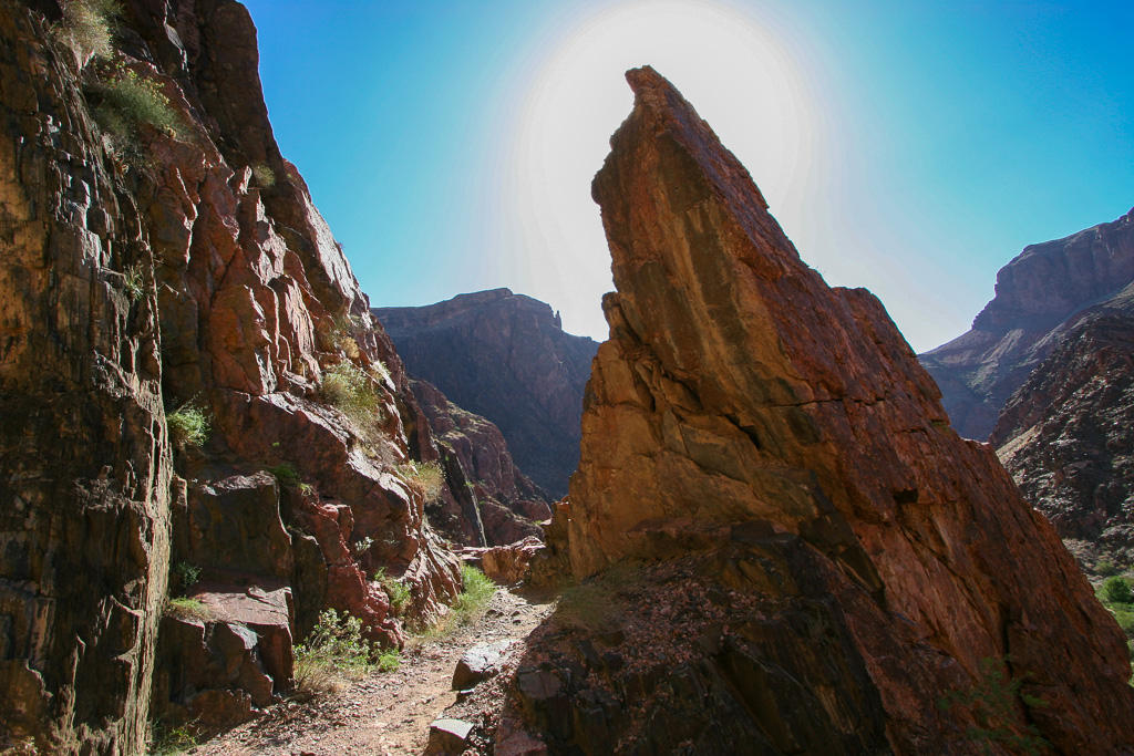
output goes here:
<path id="1" fill-rule="evenodd" d="M 121 63 L 88 84 L 85 92 L 99 126 L 120 138 L 136 138 L 146 125 L 175 136 L 184 130 L 158 82 Z"/>

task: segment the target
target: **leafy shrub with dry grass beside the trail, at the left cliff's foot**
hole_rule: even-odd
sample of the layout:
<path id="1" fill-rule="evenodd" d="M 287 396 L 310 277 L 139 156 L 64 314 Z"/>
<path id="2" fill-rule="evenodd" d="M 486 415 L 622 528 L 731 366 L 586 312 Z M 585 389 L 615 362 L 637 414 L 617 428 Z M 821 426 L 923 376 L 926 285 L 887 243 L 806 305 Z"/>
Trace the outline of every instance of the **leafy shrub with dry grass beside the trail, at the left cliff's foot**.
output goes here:
<path id="1" fill-rule="evenodd" d="M 397 664 L 396 648 L 380 651 L 362 637 L 362 620 L 347 612 L 340 617 L 328 609 L 319 615 L 306 642 L 295 647 L 296 696 L 311 699 L 336 690 L 345 679 L 357 679 L 374 666 L 390 671 Z"/>

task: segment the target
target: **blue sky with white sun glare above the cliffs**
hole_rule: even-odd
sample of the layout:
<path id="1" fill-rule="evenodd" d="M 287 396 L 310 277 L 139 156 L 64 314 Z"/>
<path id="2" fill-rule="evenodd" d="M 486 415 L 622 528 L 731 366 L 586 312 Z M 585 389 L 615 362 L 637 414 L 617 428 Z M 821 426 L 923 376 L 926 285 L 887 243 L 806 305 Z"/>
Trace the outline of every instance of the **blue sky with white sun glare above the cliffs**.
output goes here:
<path id="1" fill-rule="evenodd" d="M 643 63 L 919 351 L 1024 245 L 1134 205 L 1129 2 L 246 5 L 277 139 L 375 306 L 507 286 L 604 338 L 589 181 Z"/>

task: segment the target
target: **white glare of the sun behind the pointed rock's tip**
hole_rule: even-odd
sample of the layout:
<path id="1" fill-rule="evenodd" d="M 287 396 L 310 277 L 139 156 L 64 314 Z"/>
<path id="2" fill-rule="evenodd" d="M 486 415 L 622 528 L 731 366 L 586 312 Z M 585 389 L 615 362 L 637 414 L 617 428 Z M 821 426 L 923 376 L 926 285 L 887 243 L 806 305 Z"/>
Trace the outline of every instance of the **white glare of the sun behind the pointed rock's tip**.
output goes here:
<path id="1" fill-rule="evenodd" d="M 752 172 L 785 227 L 803 220 L 822 164 L 816 109 L 782 39 L 719 2 L 640 0 L 583 16 L 531 74 L 498 175 L 515 209 L 500 262 L 565 328 L 604 335 L 610 260 L 590 184 L 629 113 L 628 68 L 650 65 L 694 104 Z M 582 314 L 582 315 L 581 315 Z M 574 315 L 574 317 L 572 317 Z M 574 321 L 574 322 L 573 322 Z"/>

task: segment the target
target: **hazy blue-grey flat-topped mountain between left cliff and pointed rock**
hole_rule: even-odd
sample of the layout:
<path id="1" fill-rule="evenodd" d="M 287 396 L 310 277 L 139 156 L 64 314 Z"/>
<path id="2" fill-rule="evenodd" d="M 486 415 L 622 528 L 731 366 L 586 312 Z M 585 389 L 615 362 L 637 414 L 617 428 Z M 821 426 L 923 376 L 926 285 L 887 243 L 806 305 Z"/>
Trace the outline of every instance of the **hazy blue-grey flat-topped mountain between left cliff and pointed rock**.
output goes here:
<path id="1" fill-rule="evenodd" d="M 415 377 L 500 427 L 516 465 L 555 496 L 578 461 L 583 387 L 598 345 L 508 289 L 373 311 Z"/>

